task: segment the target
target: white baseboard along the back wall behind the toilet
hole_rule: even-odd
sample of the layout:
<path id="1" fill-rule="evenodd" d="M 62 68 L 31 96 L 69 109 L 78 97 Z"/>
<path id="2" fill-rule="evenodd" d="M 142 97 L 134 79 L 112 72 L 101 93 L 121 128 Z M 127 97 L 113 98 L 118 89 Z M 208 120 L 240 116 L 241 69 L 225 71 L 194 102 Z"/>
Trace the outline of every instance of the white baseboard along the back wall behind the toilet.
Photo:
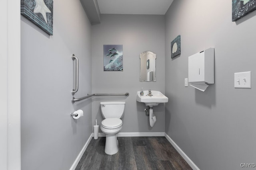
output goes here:
<path id="1" fill-rule="evenodd" d="M 93 133 L 92 133 L 93 134 Z M 151 137 L 151 136 L 164 136 L 164 132 L 120 132 L 117 134 L 118 137 Z M 94 134 L 92 135 L 94 137 Z M 106 137 L 104 133 L 98 133 L 98 137 Z"/>

